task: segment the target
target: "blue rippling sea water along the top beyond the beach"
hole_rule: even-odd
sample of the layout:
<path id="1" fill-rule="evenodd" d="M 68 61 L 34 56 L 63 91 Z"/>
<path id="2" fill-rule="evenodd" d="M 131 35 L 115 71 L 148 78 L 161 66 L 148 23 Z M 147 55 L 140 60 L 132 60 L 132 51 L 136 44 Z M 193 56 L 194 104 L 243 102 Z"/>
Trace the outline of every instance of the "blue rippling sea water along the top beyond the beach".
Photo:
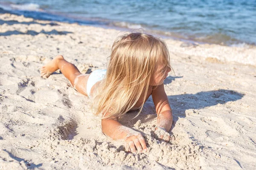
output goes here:
<path id="1" fill-rule="evenodd" d="M 0 0 L 0 8 L 42 20 L 145 28 L 196 42 L 256 45 L 256 0 Z"/>

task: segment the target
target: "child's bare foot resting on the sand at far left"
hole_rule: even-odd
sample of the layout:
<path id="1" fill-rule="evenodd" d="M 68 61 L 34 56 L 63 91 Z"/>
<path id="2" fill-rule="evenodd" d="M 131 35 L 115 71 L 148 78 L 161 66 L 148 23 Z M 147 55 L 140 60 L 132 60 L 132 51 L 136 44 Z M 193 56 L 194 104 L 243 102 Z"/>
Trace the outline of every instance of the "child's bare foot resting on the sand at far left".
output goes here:
<path id="1" fill-rule="evenodd" d="M 54 71 L 58 70 L 58 60 L 64 59 L 63 56 L 58 55 L 52 61 L 48 62 L 41 68 L 41 77 L 47 79 Z"/>

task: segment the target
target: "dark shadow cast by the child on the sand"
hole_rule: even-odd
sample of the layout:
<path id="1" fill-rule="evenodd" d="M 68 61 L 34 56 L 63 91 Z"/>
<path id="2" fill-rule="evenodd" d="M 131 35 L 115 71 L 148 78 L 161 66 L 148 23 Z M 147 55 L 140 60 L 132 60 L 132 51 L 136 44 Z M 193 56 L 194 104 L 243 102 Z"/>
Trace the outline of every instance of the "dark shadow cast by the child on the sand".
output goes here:
<path id="1" fill-rule="evenodd" d="M 175 78 L 181 77 L 171 77 L 171 82 Z M 186 110 L 197 110 L 218 104 L 225 104 L 230 101 L 239 100 L 243 96 L 244 94 L 238 93 L 236 91 L 219 89 L 215 91 L 201 91 L 196 94 L 180 94 L 167 97 L 172 108 L 173 120 L 176 122 L 180 117 L 186 117 Z M 128 114 L 122 116 L 120 122 L 123 125 L 132 127 L 138 120 L 141 120 L 142 123 L 145 123 L 155 119 L 157 115 L 151 97 L 149 97 L 147 102 L 145 102 L 140 115 L 134 118 L 137 113 L 138 110 L 128 112 Z"/>

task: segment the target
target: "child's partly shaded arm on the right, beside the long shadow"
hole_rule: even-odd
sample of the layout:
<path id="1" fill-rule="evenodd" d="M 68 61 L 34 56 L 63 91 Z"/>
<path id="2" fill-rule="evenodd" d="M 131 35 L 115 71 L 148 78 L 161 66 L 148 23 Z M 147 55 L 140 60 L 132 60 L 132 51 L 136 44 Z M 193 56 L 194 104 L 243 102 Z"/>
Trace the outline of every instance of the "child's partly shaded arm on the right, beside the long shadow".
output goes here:
<path id="1" fill-rule="evenodd" d="M 169 132 L 172 127 L 172 109 L 169 105 L 163 84 L 152 91 L 152 98 L 157 112 L 157 127 Z M 169 141 L 170 136 L 164 136 L 164 134 L 161 134 L 160 139 Z"/>

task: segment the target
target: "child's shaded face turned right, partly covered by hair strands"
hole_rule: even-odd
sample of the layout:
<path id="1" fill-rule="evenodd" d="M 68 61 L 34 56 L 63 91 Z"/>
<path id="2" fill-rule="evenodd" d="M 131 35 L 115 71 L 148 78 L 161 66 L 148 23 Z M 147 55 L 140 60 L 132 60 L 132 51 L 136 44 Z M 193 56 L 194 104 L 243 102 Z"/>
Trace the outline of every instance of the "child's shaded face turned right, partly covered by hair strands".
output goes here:
<path id="1" fill-rule="evenodd" d="M 155 72 L 152 75 L 149 85 L 161 85 L 171 71 L 169 66 L 163 64 L 157 64 Z"/>

